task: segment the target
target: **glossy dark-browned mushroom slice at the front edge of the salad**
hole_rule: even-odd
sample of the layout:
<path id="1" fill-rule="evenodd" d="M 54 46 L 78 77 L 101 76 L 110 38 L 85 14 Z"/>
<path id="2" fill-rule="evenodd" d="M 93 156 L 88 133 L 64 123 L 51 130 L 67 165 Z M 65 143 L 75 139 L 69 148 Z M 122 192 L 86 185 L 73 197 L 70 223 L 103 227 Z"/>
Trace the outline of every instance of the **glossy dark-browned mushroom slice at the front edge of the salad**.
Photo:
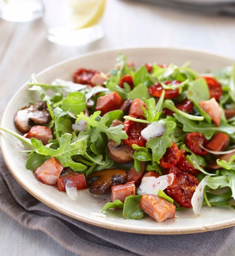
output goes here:
<path id="1" fill-rule="evenodd" d="M 89 191 L 92 194 L 105 194 L 113 185 L 125 184 L 126 182 L 127 173 L 121 169 L 105 169 L 87 176 L 87 183 L 91 185 Z"/>

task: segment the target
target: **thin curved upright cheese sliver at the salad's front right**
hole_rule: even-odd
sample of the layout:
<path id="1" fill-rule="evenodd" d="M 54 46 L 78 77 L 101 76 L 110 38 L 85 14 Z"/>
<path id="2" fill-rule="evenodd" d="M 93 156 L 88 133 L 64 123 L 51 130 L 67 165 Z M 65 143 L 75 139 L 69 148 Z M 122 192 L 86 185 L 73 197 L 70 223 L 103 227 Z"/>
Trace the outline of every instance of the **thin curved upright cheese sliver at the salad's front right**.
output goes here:
<path id="1" fill-rule="evenodd" d="M 199 185 L 196 187 L 195 192 L 192 196 L 191 203 L 192 203 L 192 209 L 196 215 L 196 217 L 199 216 L 200 210 L 202 208 L 202 203 L 203 203 L 203 194 L 204 194 L 204 189 L 206 186 L 206 182 L 209 176 L 206 176 L 205 178 L 202 179 L 202 181 L 199 183 Z"/>

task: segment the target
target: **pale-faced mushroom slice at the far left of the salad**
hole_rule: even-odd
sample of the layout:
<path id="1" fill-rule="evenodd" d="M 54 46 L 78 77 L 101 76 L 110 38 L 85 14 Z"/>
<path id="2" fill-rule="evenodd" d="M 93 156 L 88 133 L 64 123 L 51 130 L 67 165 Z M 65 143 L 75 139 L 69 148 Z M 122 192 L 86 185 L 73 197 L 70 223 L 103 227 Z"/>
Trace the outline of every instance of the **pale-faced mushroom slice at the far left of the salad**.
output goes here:
<path id="1" fill-rule="evenodd" d="M 36 102 L 33 105 L 20 109 L 15 115 L 15 125 L 23 133 L 28 133 L 32 128 L 32 123 L 47 124 L 51 120 L 51 115 L 47 110 L 44 101 Z"/>

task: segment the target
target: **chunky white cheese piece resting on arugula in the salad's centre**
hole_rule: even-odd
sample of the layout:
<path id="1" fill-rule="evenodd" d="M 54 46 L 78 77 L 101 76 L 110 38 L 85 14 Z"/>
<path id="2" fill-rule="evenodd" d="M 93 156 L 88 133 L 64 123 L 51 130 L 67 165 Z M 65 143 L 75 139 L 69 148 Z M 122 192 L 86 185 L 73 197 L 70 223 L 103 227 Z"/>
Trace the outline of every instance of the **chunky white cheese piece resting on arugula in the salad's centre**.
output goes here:
<path id="1" fill-rule="evenodd" d="M 141 135 L 145 140 L 162 136 L 166 131 L 166 123 L 162 120 L 158 122 L 152 122 L 146 128 L 141 131 Z"/>

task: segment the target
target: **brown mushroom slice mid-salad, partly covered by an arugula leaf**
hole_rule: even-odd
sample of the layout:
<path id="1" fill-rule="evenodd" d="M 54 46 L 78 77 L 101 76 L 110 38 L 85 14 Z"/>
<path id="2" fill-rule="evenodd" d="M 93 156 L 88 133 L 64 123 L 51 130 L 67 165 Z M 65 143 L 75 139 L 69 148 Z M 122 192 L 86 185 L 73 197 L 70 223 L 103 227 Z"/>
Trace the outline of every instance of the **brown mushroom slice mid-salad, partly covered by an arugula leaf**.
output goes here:
<path id="1" fill-rule="evenodd" d="M 112 127 L 117 125 L 123 125 L 122 121 L 117 119 L 113 120 Z M 126 145 L 123 140 L 120 144 L 109 139 L 108 154 L 117 163 L 127 164 L 133 161 L 134 149 Z"/>

